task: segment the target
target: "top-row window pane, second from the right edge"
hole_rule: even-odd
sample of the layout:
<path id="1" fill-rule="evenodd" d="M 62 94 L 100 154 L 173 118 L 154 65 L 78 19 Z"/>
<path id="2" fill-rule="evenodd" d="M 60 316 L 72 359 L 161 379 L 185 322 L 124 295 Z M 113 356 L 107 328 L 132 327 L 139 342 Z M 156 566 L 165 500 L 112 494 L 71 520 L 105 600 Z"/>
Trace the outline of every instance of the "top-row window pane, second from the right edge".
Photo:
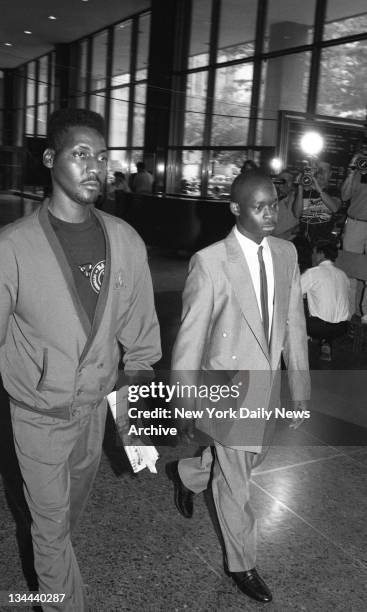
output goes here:
<path id="1" fill-rule="evenodd" d="M 278 51 L 312 43 L 315 0 L 268 2 L 264 51 Z"/>

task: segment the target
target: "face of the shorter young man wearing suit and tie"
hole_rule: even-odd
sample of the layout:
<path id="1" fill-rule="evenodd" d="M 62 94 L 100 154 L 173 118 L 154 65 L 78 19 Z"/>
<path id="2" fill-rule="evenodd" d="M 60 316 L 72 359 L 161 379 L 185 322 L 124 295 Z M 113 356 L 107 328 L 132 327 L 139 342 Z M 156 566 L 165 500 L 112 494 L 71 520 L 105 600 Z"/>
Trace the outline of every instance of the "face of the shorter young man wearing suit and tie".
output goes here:
<path id="1" fill-rule="evenodd" d="M 246 195 L 238 198 L 238 227 L 244 230 L 251 240 L 260 243 L 265 236 L 269 236 L 276 226 L 278 219 L 278 198 L 274 185 L 260 181 Z"/>

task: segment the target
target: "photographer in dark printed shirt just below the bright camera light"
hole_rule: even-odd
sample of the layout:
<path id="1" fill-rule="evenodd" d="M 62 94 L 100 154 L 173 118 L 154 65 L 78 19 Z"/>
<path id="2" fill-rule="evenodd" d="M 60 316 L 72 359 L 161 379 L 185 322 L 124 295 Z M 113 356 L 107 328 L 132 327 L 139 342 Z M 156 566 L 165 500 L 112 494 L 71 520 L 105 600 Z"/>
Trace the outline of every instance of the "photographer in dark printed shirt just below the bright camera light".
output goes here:
<path id="1" fill-rule="evenodd" d="M 329 187 L 330 172 L 328 162 L 317 162 L 315 168 L 307 169 L 296 180 L 298 188 L 293 212 L 312 245 L 319 238 L 330 238 L 334 214 L 341 206 L 338 190 Z"/>

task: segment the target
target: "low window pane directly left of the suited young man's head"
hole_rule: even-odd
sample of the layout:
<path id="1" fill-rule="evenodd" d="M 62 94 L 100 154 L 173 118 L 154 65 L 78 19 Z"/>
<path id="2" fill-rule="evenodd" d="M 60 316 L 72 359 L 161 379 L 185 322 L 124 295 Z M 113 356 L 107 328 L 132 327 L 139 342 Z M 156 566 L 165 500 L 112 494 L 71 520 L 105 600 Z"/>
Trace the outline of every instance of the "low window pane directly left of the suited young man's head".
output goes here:
<path id="1" fill-rule="evenodd" d="M 228 200 L 234 178 L 246 155 L 242 151 L 212 151 L 209 162 L 208 196 Z"/>

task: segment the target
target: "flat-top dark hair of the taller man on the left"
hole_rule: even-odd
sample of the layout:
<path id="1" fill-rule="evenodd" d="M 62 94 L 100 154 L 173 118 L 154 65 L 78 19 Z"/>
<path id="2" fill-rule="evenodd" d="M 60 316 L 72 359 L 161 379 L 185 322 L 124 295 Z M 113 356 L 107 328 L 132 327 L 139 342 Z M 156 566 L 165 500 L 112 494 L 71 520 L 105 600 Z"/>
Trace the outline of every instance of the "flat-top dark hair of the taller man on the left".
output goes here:
<path id="1" fill-rule="evenodd" d="M 105 138 L 104 119 L 98 113 L 85 108 L 60 108 L 50 115 L 47 123 L 47 141 L 51 149 L 59 149 L 65 132 L 70 127 L 89 127 Z"/>

